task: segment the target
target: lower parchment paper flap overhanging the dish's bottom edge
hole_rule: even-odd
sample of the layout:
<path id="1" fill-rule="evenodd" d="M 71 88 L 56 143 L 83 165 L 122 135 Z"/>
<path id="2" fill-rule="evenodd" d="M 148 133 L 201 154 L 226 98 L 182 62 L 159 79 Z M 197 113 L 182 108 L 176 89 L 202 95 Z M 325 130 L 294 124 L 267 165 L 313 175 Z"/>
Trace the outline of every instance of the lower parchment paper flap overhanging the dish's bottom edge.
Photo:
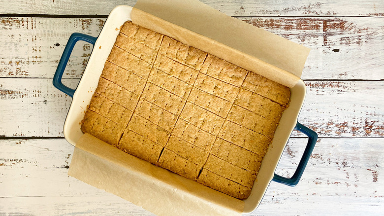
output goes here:
<path id="1" fill-rule="evenodd" d="M 89 134 L 76 143 L 68 175 L 158 216 L 240 216 L 244 209 L 241 200 L 154 166 Z"/>

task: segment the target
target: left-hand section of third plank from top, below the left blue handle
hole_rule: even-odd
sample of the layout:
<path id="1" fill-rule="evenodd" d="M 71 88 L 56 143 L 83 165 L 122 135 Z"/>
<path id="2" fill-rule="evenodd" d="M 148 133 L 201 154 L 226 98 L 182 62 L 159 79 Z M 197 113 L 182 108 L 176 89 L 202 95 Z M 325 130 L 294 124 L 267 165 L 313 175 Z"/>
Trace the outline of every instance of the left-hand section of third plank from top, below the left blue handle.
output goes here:
<path id="1" fill-rule="evenodd" d="M 64 79 L 70 88 L 79 79 Z M 56 89 L 52 79 L 0 79 L 0 136 L 63 137 L 72 98 Z"/>

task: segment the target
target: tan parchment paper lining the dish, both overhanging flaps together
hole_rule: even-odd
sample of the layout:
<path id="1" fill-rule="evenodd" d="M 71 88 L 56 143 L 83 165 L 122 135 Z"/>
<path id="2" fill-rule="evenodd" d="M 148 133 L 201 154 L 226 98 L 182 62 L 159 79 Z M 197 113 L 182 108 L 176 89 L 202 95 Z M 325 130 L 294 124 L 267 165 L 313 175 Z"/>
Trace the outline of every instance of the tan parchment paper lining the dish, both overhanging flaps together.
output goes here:
<path id="1" fill-rule="evenodd" d="M 131 18 L 137 25 L 288 87 L 300 80 L 309 53 L 301 45 L 197 0 L 138 0 Z M 156 167 L 89 134 L 76 143 L 68 175 L 159 216 L 239 216 L 244 210 L 242 200 Z"/>

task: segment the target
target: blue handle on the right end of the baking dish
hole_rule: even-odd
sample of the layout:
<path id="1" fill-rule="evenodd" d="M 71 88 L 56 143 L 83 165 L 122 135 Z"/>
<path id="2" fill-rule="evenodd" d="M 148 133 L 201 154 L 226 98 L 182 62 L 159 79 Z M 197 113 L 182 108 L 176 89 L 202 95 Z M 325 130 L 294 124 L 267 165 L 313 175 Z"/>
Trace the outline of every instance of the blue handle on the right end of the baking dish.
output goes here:
<path id="1" fill-rule="evenodd" d="M 304 125 L 300 124 L 299 122 L 297 122 L 294 129 L 298 130 L 298 131 L 300 131 L 303 134 L 308 136 L 308 144 L 305 147 L 303 157 L 301 157 L 299 165 L 297 166 L 296 171 L 291 178 L 282 177 L 282 176 L 279 176 L 275 173 L 275 176 L 272 179 L 273 181 L 276 181 L 276 182 L 279 182 L 282 184 L 286 184 L 286 185 L 292 186 L 292 187 L 297 185 L 301 176 L 303 175 L 304 169 L 307 166 L 308 160 L 309 160 L 309 158 L 312 154 L 312 151 L 315 147 L 315 144 L 318 140 L 318 134 L 315 131 L 305 127 Z"/>

